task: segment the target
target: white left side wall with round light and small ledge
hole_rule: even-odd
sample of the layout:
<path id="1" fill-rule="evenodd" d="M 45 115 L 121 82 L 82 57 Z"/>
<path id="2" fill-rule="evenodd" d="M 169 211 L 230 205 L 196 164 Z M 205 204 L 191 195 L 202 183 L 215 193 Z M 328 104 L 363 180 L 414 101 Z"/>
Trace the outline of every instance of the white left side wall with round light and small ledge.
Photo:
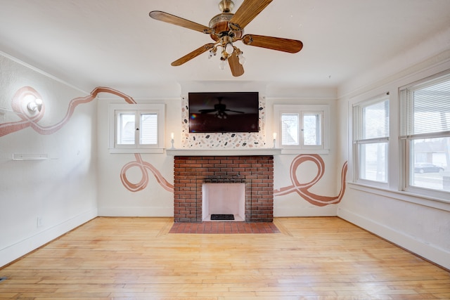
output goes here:
<path id="1" fill-rule="evenodd" d="M 70 100 L 86 93 L 3 53 L 0 70 L 0 130 L 8 132 L 0 136 L 0 266 L 4 266 L 97 215 L 96 105 L 79 105 L 68 122 L 62 122 Z M 36 124 L 64 124 L 58 131 L 40 134 L 30 126 L 13 126 L 22 119 L 11 101 L 23 86 L 35 89 L 44 101 L 43 117 Z M 49 159 L 13 160 L 14 154 Z"/>

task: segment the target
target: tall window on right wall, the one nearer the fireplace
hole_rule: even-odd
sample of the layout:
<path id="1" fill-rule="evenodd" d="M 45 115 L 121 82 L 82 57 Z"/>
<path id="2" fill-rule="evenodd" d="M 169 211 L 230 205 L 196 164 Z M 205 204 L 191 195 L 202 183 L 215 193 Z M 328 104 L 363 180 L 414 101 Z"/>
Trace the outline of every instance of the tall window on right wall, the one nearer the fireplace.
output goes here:
<path id="1" fill-rule="evenodd" d="M 383 96 L 353 107 L 356 181 L 387 183 L 389 98 Z"/>

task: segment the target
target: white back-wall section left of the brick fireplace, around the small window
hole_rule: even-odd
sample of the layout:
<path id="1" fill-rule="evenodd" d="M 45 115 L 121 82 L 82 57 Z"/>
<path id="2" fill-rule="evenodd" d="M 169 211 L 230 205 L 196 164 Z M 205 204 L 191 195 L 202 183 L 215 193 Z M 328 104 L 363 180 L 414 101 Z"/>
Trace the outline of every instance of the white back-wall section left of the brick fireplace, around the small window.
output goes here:
<path id="1" fill-rule="evenodd" d="M 181 99 L 157 98 L 134 99 L 136 103 L 165 103 L 166 129 L 165 147 L 170 148 L 170 133 L 174 132 L 175 147 L 179 147 L 181 138 Z M 148 175 L 146 187 L 132 192 L 127 190 L 120 174 L 122 167 L 135 162 L 132 153 L 111 154 L 109 145 L 109 105 L 124 103 L 121 99 L 103 97 L 98 99 L 98 214 L 99 216 L 173 216 L 174 194 L 162 187 L 150 169 L 131 167 L 126 176 L 131 183 L 139 183 Z M 132 105 L 132 104 L 130 104 Z M 174 157 L 165 153 L 142 153 L 143 162 L 151 164 L 169 183 L 174 182 Z"/>

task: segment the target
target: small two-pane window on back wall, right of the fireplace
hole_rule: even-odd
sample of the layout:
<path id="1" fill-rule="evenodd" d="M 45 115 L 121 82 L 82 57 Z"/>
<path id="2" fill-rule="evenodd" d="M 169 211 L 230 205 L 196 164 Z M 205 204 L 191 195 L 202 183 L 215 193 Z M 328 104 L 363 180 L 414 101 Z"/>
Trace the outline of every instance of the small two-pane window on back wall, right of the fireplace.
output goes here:
<path id="1" fill-rule="evenodd" d="M 274 114 L 280 148 L 328 149 L 328 105 L 274 105 Z"/>

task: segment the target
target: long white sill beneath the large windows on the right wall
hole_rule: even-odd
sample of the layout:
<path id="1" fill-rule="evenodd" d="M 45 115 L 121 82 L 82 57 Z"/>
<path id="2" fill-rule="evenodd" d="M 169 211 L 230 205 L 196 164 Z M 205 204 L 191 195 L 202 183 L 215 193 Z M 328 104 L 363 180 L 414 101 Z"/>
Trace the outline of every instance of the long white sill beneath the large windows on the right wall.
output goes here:
<path id="1" fill-rule="evenodd" d="M 388 190 L 386 188 L 380 188 L 377 186 L 364 185 L 361 183 L 348 182 L 349 188 L 354 190 L 360 190 L 362 192 L 371 193 L 374 195 L 380 195 L 383 197 L 390 197 L 395 200 L 401 200 L 405 202 L 411 202 L 414 204 L 424 205 L 426 207 L 432 207 L 435 209 L 442 209 L 444 211 L 450 211 L 450 201 L 440 198 L 427 197 L 424 195 L 418 195 L 414 193 L 404 192 L 401 190 Z"/>

